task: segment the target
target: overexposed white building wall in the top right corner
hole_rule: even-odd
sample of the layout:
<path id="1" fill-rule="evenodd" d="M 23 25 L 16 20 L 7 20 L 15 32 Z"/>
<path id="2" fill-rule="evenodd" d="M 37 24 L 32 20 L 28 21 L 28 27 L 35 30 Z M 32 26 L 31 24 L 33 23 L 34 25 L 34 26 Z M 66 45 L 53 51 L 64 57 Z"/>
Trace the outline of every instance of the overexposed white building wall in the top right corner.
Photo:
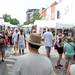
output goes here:
<path id="1" fill-rule="evenodd" d="M 73 20 L 75 19 L 75 0 L 62 0 L 56 10 L 60 13 L 60 19 Z"/>

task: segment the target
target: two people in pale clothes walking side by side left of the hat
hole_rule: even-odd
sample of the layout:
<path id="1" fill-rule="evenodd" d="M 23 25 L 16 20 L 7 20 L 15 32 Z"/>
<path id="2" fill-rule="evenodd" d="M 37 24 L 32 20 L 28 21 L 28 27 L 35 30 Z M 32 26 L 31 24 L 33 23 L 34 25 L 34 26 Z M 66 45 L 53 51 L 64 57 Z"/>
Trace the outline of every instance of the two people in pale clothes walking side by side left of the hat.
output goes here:
<path id="1" fill-rule="evenodd" d="M 12 35 L 12 39 L 14 41 L 14 50 L 16 53 L 16 50 L 18 50 L 19 48 L 19 54 L 24 54 L 24 49 L 26 47 L 26 42 L 25 42 L 25 32 L 20 29 L 20 31 L 18 31 L 18 29 L 15 30 L 15 32 Z"/>

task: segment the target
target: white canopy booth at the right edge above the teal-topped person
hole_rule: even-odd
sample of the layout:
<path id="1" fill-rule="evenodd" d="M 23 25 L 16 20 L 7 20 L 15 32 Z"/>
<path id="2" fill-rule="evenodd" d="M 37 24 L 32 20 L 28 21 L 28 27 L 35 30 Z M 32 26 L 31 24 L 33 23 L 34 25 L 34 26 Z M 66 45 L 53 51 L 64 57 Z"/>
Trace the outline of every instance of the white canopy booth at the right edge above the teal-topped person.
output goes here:
<path id="1" fill-rule="evenodd" d="M 56 29 L 57 32 L 58 30 L 60 30 L 61 32 L 63 32 L 65 35 L 74 35 L 74 26 L 75 23 L 73 20 L 70 19 L 64 19 L 64 20 L 57 20 L 56 21 Z"/>

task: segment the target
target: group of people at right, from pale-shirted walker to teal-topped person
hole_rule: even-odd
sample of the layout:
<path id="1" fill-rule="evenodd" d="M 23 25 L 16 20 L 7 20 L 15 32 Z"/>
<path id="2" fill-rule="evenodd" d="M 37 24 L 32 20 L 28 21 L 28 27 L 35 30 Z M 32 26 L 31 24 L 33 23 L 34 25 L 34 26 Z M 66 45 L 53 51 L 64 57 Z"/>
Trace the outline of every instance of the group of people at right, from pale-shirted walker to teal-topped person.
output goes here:
<path id="1" fill-rule="evenodd" d="M 55 50 L 58 52 L 59 58 L 55 65 L 56 69 L 61 69 L 64 67 L 64 71 L 67 75 L 74 75 L 70 74 L 68 69 L 70 66 L 75 65 L 75 36 L 66 36 L 61 32 L 58 32 L 56 38 L 53 39 L 52 32 L 48 31 L 44 32 L 44 41 L 45 41 L 45 48 L 47 50 L 47 56 L 50 58 L 51 47 L 54 46 Z M 61 64 L 62 55 L 65 56 L 65 65 Z M 75 70 L 75 67 L 73 68 Z M 73 70 L 73 71 L 74 71 Z"/>

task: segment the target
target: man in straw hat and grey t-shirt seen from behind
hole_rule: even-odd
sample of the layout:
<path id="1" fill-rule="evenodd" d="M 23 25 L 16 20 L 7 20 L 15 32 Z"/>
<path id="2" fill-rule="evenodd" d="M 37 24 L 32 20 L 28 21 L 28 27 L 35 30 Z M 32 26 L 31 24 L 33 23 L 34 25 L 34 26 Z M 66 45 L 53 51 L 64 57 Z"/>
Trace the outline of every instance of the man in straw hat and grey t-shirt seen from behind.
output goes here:
<path id="1" fill-rule="evenodd" d="M 16 61 L 12 75 L 54 75 L 51 61 L 38 52 L 41 46 L 41 35 L 32 33 L 26 41 L 29 53 Z"/>

